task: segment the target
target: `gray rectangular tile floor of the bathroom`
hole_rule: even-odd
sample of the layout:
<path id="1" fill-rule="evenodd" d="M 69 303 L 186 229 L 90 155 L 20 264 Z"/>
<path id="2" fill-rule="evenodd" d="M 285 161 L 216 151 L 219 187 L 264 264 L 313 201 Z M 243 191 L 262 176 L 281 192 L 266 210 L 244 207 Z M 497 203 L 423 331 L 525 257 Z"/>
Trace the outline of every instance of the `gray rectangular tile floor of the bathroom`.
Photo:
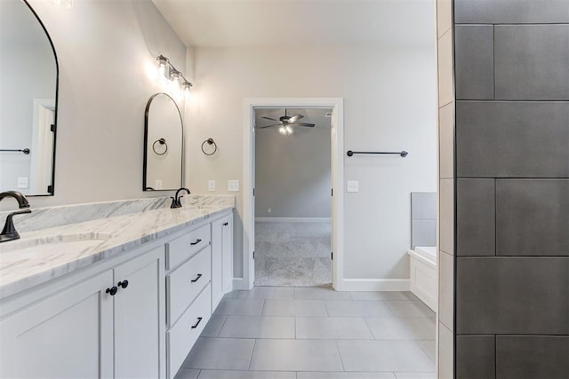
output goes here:
<path id="1" fill-rule="evenodd" d="M 435 313 L 409 292 L 255 287 L 221 301 L 176 379 L 434 379 Z"/>

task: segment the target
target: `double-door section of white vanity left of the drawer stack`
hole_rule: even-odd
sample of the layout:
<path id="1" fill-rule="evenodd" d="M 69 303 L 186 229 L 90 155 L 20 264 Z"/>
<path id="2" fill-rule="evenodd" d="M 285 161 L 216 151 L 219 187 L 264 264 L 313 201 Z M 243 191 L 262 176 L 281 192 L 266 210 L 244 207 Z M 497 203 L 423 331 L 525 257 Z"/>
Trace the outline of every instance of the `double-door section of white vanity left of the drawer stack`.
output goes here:
<path id="1" fill-rule="evenodd" d="M 90 274 L 0 321 L 0 377 L 165 377 L 164 246 Z"/>

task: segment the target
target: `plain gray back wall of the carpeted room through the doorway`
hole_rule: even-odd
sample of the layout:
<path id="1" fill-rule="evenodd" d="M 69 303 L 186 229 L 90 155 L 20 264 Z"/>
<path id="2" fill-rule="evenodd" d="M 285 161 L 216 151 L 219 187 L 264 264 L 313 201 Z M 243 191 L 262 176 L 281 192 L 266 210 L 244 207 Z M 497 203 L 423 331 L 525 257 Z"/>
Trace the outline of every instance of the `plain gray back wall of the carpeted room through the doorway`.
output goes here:
<path id="1" fill-rule="evenodd" d="M 330 217 L 332 162 L 327 120 L 328 127 L 293 127 L 288 136 L 277 128 L 256 131 L 255 217 Z"/>

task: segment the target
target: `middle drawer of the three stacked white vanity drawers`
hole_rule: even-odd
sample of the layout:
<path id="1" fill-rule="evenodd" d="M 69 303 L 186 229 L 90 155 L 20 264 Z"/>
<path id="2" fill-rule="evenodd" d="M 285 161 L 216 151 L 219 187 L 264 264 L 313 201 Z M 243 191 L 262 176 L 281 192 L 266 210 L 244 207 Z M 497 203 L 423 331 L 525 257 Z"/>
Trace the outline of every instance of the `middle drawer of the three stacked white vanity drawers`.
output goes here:
<path id="1" fill-rule="evenodd" d="M 166 276 L 168 325 L 172 326 L 212 279 L 212 248 L 208 246 Z"/>

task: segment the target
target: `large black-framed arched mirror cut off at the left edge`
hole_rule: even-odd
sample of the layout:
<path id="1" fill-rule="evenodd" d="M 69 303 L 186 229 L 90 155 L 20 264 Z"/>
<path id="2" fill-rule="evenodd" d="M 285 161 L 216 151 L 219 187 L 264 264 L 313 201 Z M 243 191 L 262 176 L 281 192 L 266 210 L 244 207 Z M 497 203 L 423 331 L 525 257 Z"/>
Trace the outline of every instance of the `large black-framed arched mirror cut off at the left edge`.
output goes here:
<path id="1" fill-rule="evenodd" d="M 24 0 L 0 0 L 0 192 L 52 195 L 59 68 Z"/>

